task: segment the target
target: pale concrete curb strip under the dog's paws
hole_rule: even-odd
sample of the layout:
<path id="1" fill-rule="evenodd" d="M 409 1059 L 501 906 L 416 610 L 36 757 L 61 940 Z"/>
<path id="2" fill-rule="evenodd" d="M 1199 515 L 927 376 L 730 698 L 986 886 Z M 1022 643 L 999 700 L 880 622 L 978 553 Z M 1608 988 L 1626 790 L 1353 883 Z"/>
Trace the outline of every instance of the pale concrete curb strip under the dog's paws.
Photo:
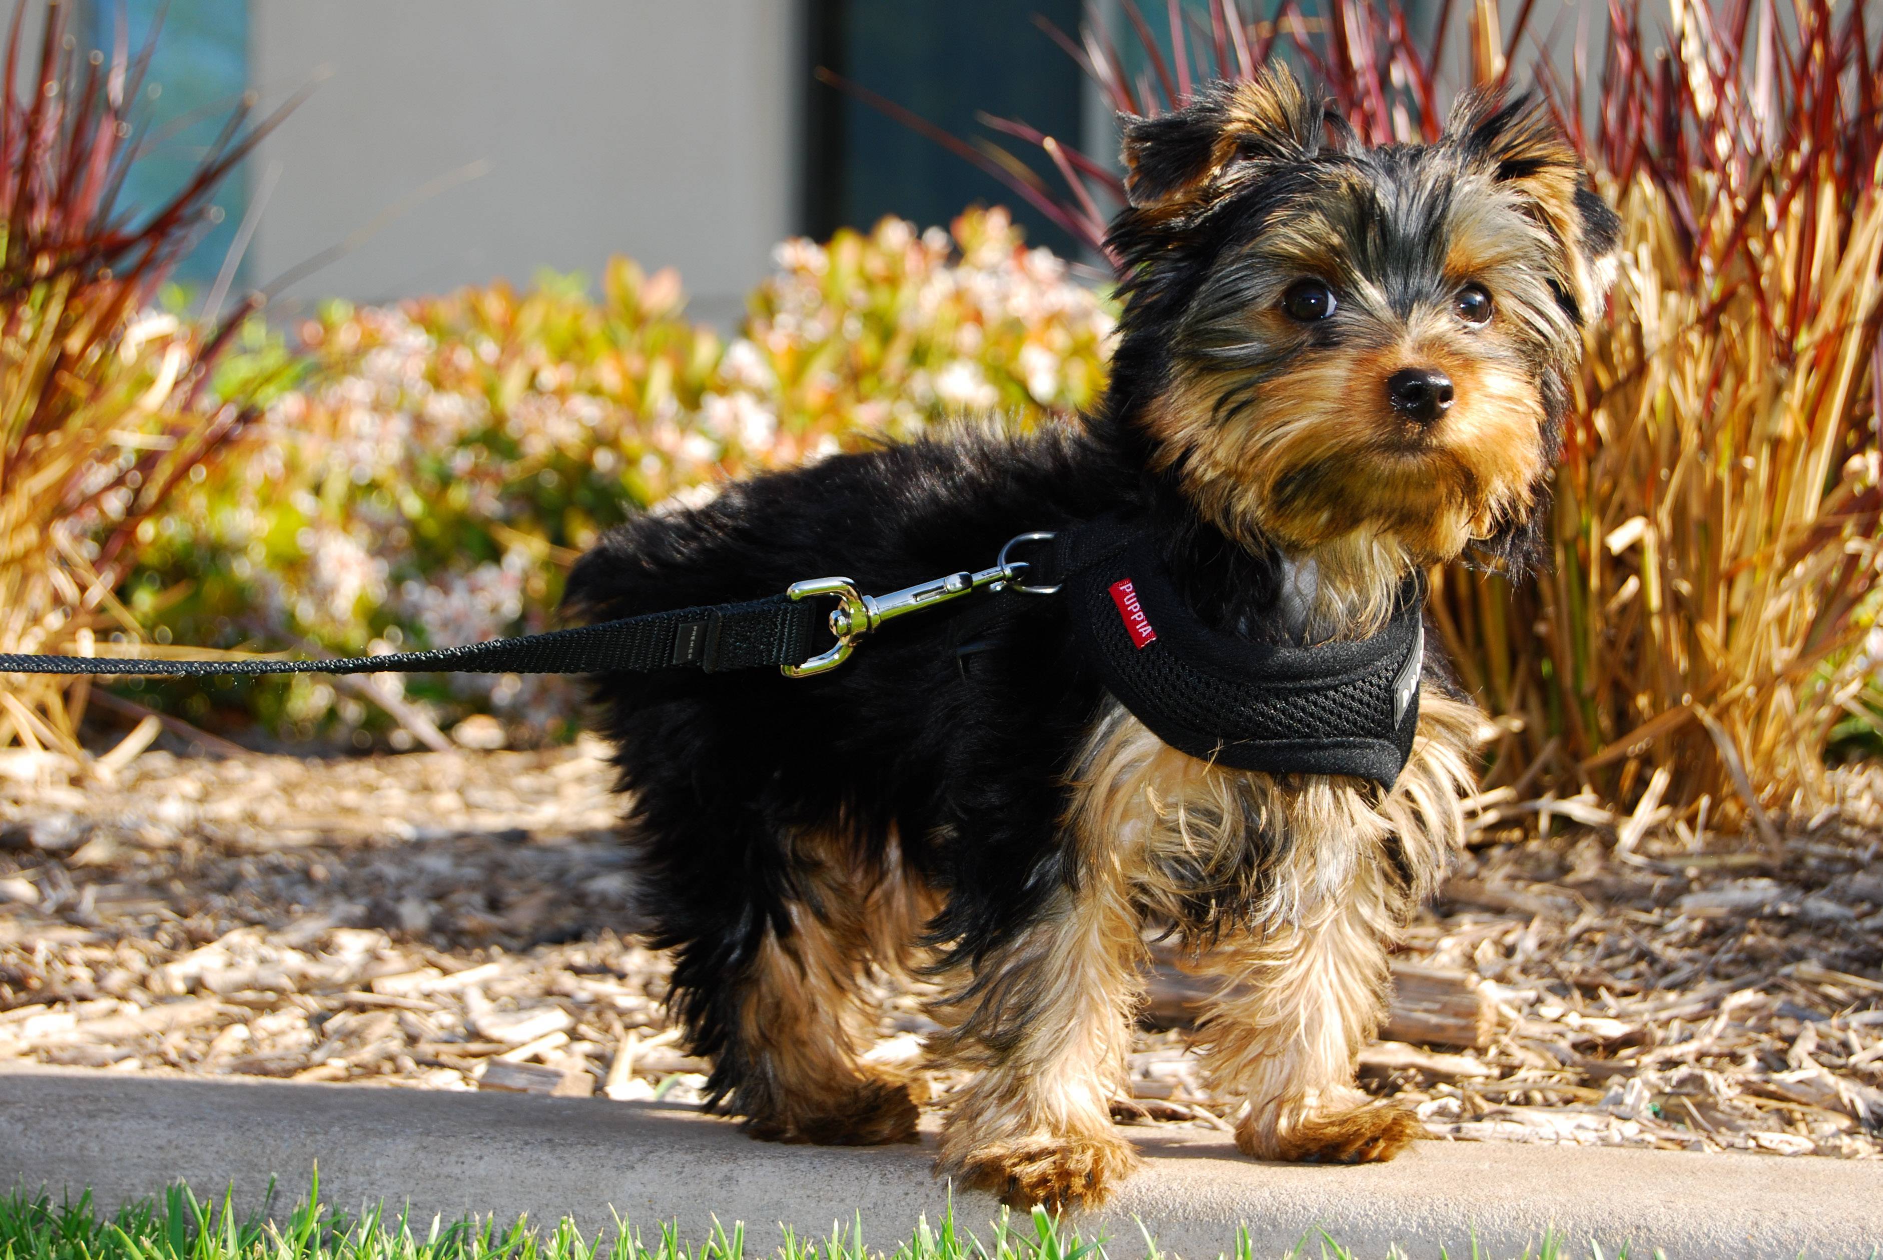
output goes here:
<path id="1" fill-rule="evenodd" d="M 1203 1260 L 1247 1222 L 1254 1254 L 1280 1256 L 1324 1226 L 1356 1256 L 1516 1256 L 1548 1224 L 1606 1254 L 1663 1247 L 1670 1260 L 1870 1256 L 1883 1245 L 1883 1166 L 1828 1158 L 1683 1155 L 1425 1141 L 1393 1164 L 1305 1168 L 1241 1158 L 1224 1136 L 1130 1132 L 1149 1156 L 1109 1211 L 1081 1220 L 1143 1251 L 1134 1217 L 1166 1251 Z M 77 1192 L 102 1205 L 175 1179 L 198 1192 L 233 1183 L 252 1203 L 269 1175 L 303 1192 L 314 1160 L 331 1203 L 410 1203 L 424 1219 L 465 1211 L 595 1230 L 610 1207 L 642 1224 L 678 1219 L 700 1237 L 744 1220 L 757 1254 L 776 1224 L 823 1237 L 862 1209 L 872 1247 L 893 1249 L 947 1190 L 925 1147 L 830 1149 L 749 1141 L 727 1121 L 657 1104 L 444 1094 L 341 1085 L 126 1077 L 111 1072 L 0 1074 L 0 1188 Z M 957 1194 L 957 1215 L 987 1237 L 996 1205 Z M 1318 1247 L 1311 1254 L 1320 1254 Z"/>

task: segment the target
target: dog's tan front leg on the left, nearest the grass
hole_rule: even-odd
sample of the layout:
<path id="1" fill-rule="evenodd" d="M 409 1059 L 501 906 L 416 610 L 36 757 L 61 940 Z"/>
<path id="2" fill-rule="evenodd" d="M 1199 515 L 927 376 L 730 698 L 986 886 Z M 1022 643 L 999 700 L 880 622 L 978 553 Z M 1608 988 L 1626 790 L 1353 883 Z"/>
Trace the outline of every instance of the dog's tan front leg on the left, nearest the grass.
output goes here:
<path id="1" fill-rule="evenodd" d="M 1137 913 L 1122 878 L 1062 887 L 951 1002 L 936 1042 L 981 1068 L 942 1130 L 938 1173 L 1015 1207 L 1094 1207 L 1137 1153 L 1111 1124 L 1141 996 Z M 949 1010 L 940 1011 L 943 1015 Z"/>

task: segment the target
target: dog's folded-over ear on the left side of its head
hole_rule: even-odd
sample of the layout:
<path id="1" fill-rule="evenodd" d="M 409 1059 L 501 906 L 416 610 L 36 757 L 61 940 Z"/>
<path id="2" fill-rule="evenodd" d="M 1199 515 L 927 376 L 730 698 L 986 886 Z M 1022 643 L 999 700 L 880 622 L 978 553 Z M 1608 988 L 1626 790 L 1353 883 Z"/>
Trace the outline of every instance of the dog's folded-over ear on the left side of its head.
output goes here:
<path id="1" fill-rule="evenodd" d="M 1239 164 L 1312 156 L 1326 105 L 1286 66 L 1241 83 L 1213 83 L 1175 113 L 1124 115 L 1124 190 L 1134 209 L 1179 211 Z"/>

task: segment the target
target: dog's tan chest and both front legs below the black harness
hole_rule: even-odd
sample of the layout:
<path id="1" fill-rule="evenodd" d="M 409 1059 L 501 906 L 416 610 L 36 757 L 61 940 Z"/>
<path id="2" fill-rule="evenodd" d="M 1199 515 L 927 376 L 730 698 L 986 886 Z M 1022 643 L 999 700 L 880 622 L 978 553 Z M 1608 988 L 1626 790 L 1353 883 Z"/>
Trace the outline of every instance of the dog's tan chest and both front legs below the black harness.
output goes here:
<path id="1" fill-rule="evenodd" d="M 1086 1205 L 1137 1166 L 1111 1098 L 1147 913 L 1233 925 L 1205 955 L 1226 985 L 1201 1043 L 1241 1104 L 1245 1153 L 1354 1162 L 1403 1149 L 1418 1121 L 1369 1100 L 1354 1060 L 1384 1011 L 1386 947 L 1461 840 L 1476 727 L 1476 710 L 1435 691 L 1420 714 L 1412 759 L 1376 800 L 1350 780 L 1215 767 L 1113 706 L 1073 783 L 1073 880 L 960 987 L 958 1023 L 934 1042 L 981 1068 L 947 1119 L 940 1170 L 1009 1203 Z"/>

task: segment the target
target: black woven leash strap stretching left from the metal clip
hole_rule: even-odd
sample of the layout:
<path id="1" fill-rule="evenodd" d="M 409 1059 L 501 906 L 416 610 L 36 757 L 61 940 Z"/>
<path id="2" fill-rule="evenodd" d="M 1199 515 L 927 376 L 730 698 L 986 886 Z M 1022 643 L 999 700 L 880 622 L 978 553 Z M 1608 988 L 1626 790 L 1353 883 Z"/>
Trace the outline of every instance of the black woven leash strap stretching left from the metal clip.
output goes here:
<path id="1" fill-rule="evenodd" d="M 708 674 L 798 665 L 819 608 L 785 595 L 740 605 L 650 612 L 574 629 L 495 638 L 463 648 L 301 661 L 162 661 L 153 657 L 0 654 L 0 674 L 113 674 L 209 678 L 254 674 L 610 674 L 691 665 Z"/>

